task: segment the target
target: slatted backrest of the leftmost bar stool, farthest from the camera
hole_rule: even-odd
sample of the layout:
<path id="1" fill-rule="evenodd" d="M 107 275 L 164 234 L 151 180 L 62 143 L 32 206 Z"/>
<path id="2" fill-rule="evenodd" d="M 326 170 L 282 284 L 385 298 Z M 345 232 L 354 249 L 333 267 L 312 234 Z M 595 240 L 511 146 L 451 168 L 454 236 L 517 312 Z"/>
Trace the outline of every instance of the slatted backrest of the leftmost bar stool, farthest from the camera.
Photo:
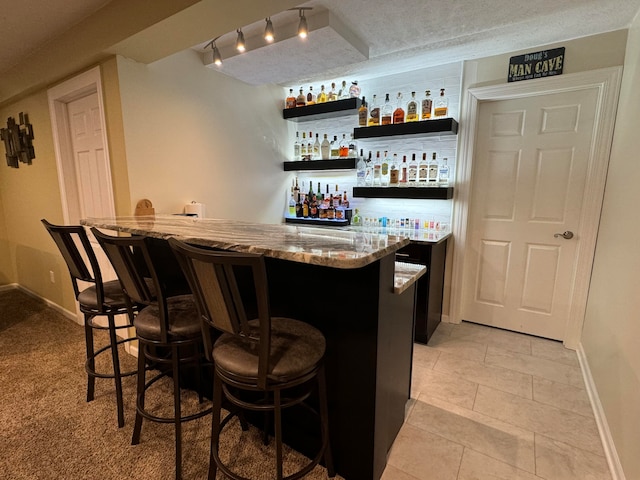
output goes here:
<path id="1" fill-rule="evenodd" d="M 92 283 L 96 287 L 97 305 L 102 308 L 104 305 L 102 274 L 84 227 L 82 225 L 53 225 L 44 218 L 40 221 L 53 238 L 67 264 L 76 298 L 80 294 L 78 281 Z M 84 251 L 80 250 L 78 244 L 82 245 Z"/>

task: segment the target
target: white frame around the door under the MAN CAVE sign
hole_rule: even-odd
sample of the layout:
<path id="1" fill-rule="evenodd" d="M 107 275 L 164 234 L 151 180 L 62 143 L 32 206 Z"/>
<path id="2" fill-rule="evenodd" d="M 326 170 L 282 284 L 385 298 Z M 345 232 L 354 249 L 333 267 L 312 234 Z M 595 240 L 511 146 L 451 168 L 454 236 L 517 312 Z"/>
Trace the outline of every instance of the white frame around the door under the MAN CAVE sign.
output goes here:
<path id="1" fill-rule="evenodd" d="M 595 132 L 587 167 L 583 209 L 578 227 L 580 245 L 577 252 L 575 282 L 563 340 L 567 348 L 574 350 L 578 348 L 591 281 L 591 268 L 604 198 L 621 79 L 622 67 L 611 67 L 522 82 L 474 87 L 467 90 L 460 115 L 461 132 L 453 206 L 454 252 L 449 308 L 449 318 L 452 323 L 462 321 L 463 279 L 466 274 L 464 252 L 467 235 L 470 233 L 468 231 L 470 225 L 469 199 L 472 193 L 473 154 L 480 103 L 596 88 L 598 98 Z"/>

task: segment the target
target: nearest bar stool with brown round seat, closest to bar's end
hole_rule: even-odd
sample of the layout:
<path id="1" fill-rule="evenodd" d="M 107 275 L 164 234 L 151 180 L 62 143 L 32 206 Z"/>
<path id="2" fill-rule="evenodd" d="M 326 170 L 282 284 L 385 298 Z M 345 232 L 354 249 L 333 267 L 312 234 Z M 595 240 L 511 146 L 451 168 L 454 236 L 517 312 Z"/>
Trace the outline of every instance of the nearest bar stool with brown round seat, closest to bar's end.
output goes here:
<path id="1" fill-rule="evenodd" d="M 221 430 L 238 413 L 232 411 L 221 421 L 223 393 L 239 410 L 273 413 L 278 480 L 283 480 L 282 409 L 302 405 L 318 414 L 321 434 L 318 453 L 285 480 L 302 478 L 323 458 L 329 476 L 335 476 L 329 446 L 322 333 L 304 322 L 271 316 L 262 255 L 206 250 L 173 238 L 169 244 L 196 298 L 203 320 L 205 353 L 214 365 L 209 479 L 216 478 L 219 468 L 234 480 L 247 480 L 231 471 L 218 454 Z M 241 293 L 237 278 L 249 274 L 253 288 Z M 243 298 L 255 298 L 258 318 L 247 318 Z M 211 328 L 222 332 L 213 344 Z M 314 387 L 318 390 L 319 413 L 305 402 Z M 247 393 L 255 398 L 249 398 Z M 264 435 L 267 439 L 266 429 Z"/>

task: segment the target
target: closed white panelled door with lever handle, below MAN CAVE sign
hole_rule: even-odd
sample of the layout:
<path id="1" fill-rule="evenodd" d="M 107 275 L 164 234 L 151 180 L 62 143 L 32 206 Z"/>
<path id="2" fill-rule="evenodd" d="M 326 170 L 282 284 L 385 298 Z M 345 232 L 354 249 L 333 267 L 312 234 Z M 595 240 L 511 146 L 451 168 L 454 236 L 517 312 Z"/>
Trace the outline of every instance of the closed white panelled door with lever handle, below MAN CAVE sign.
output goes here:
<path id="1" fill-rule="evenodd" d="M 564 339 L 598 93 L 480 104 L 463 320 Z M 598 218 L 588 222 L 597 226 Z"/>

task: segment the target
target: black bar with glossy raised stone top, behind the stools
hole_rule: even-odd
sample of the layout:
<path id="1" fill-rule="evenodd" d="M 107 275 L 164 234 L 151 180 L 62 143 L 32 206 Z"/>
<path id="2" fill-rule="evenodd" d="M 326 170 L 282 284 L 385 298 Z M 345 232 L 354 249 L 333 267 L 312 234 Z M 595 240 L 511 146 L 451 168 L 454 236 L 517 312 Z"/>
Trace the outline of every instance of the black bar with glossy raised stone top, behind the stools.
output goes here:
<path id="1" fill-rule="evenodd" d="M 151 237 L 163 267 L 175 264 L 170 237 L 264 254 L 272 314 L 305 321 L 325 335 L 337 473 L 346 480 L 380 479 L 410 397 L 416 279 L 425 269 L 396 262 L 409 239 L 166 215 L 81 223 Z M 285 443 L 306 455 L 315 451 L 317 437 L 317 425 L 308 419 L 285 426 Z"/>

